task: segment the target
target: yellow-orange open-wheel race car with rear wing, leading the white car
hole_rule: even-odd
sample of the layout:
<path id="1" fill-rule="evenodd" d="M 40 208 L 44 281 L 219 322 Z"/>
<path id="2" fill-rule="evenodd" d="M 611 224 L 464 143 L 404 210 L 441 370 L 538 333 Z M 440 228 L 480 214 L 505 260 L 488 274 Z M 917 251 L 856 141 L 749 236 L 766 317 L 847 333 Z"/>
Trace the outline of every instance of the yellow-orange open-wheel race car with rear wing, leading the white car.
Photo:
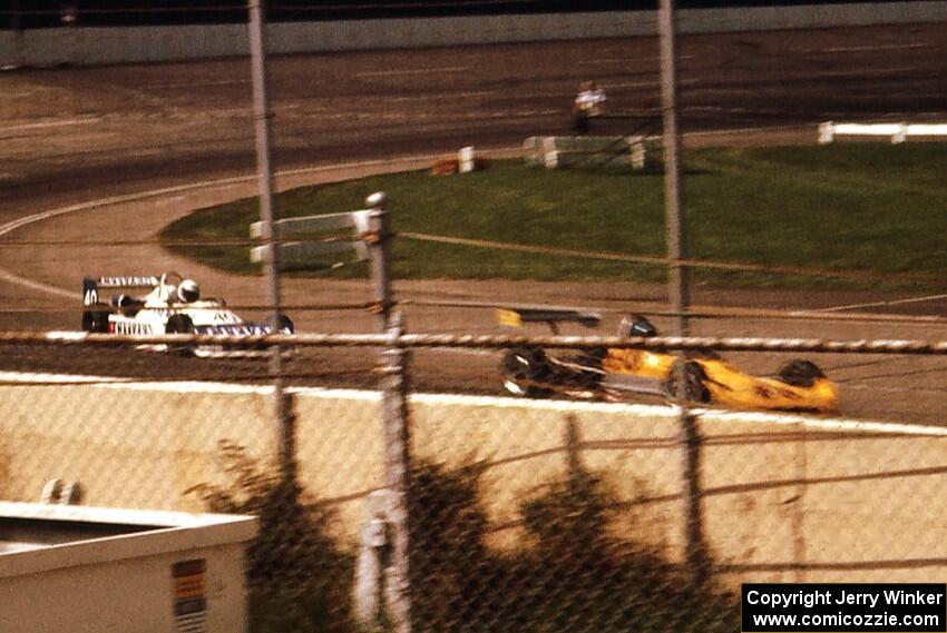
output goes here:
<path id="1" fill-rule="evenodd" d="M 573 309 L 501 308 L 505 325 L 546 323 L 558 333 L 559 323 L 597 326 L 601 317 Z M 626 317 L 619 336 L 656 336 L 644 317 Z M 839 388 L 810 360 L 790 360 L 775 377 L 752 376 L 706 350 L 685 357 L 654 349 L 597 348 L 555 355 L 540 347 L 516 347 L 504 355 L 504 387 L 511 394 L 584 399 L 628 399 L 635 394 L 683 397 L 694 404 L 755 411 L 834 412 Z"/>

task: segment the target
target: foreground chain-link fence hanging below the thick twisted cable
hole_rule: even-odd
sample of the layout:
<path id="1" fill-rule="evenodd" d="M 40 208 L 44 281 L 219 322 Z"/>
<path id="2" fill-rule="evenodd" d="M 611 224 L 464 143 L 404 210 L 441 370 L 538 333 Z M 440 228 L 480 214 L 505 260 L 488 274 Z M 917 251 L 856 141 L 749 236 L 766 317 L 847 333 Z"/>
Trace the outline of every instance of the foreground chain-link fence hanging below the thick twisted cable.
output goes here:
<path id="1" fill-rule="evenodd" d="M 947 476 L 943 425 L 710 407 L 690 409 L 687 434 L 678 407 L 654 399 L 410 387 L 411 355 L 432 347 L 480 348 L 498 365 L 525 340 L 831 350 L 943 372 L 944 343 L 272 337 L 293 342 L 287 376 L 323 375 L 341 354 L 381 388 L 290 380 L 287 417 L 276 421 L 264 359 L 123 340 L 2 337 L 7 356 L 96 358 L 116 377 L 2 377 L 0 498 L 258 515 L 247 560 L 254 631 L 733 631 L 743 581 L 924 581 L 947 567 L 935 501 Z"/>

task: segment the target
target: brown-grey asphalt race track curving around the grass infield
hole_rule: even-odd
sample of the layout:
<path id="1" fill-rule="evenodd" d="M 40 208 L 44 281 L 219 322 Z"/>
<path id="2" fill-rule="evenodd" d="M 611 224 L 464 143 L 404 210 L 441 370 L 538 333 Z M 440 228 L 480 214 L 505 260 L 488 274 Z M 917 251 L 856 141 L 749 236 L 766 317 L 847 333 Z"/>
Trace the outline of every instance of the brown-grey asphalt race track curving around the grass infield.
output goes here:
<path id="1" fill-rule="evenodd" d="M 680 38 L 680 55 L 685 148 L 813 142 L 817 125 L 826 120 L 947 121 L 947 23 L 689 36 Z M 424 167 L 432 157 L 468 145 L 497 154 L 519 147 L 528 136 L 564 133 L 576 87 L 587 78 L 607 90 L 613 111 L 641 116 L 596 121 L 601 125 L 593 131 L 633 131 L 653 120 L 660 105 L 655 38 L 285 57 L 272 59 L 269 68 L 275 168 L 325 167 L 281 177 L 283 187 Z M 155 244 L 124 244 L 148 240 L 192 209 L 254 194 L 246 59 L 19 70 L 0 75 L 0 239 L 7 243 L 0 250 L 0 329 L 77 329 L 80 280 L 87 274 L 176 269 L 232 305 L 263 303 L 260 278 L 227 277 L 176 259 Z M 420 158 L 394 160 L 406 157 Z M 205 185 L 183 188 L 197 182 Z M 136 197 L 159 189 L 166 192 Z M 57 212 L 38 216 L 47 211 Z M 33 221 L 20 226 L 25 218 Z M 369 291 L 360 281 L 291 279 L 284 283 L 283 300 L 353 304 L 368 300 Z M 502 332 L 490 310 L 430 305 L 437 301 L 595 306 L 605 310 L 602 333 L 612 332 L 622 311 L 666 307 L 663 288 L 633 280 L 397 283 L 396 294 L 408 300 L 403 309 L 412 332 Z M 695 322 L 695 334 L 947 339 L 943 322 L 736 318 L 741 308 L 842 306 L 862 307 L 840 314 L 944 317 L 943 297 L 695 288 L 693 299 L 697 306 L 734 310 L 734 318 Z M 377 319 L 364 311 L 297 310 L 293 316 L 303 332 L 377 328 Z M 497 393 L 497 359 L 490 352 L 418 353 L 413 383 L 423 390 Z M 772 373 L 783 358 L 742 354 L 734 359 Z M 847 415 L 945 424 L 943 356 L 813 359 L 842 385 Z M 295 383 L 368 387 L 377 383 L 373 365 L 368 349 L 312 349 L 292 362 L 290 372 Z M 266 378 L 260 363 L 26 346 L 4 346 L 0 370 Z"/>

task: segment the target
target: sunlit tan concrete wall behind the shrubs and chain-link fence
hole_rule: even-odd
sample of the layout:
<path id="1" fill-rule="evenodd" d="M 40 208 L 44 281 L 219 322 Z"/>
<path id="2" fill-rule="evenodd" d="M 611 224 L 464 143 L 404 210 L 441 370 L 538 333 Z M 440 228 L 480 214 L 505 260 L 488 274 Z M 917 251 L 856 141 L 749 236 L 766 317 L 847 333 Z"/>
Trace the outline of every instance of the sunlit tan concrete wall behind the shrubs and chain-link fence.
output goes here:
<path id="1" fill-rule="evenodd" d="M 183 492 L 222 481 L 219 441 L 272 457 L 270 398 L 213 385 L 0 387 L 0 498 L 36 501 L 61 477 L 78 481 L 89 505 L 202 510 Z M 379 395 L 304 390 L 295 407 L 301 479 L 338 508 L 353 545 L 364 497 L 383 481 Z M 624 502 L 618 533 L 681 556 L 683 457 L 668 407 L 417 395 L 411 409 L 417 456 L 487 466 L 494 545 L 523 537 L 519 505 L 564 478 L 572 455 Z M 706 535 L 734 581 L 947 572 L 945 429 L 719 413 L 701 428 Z"/>

